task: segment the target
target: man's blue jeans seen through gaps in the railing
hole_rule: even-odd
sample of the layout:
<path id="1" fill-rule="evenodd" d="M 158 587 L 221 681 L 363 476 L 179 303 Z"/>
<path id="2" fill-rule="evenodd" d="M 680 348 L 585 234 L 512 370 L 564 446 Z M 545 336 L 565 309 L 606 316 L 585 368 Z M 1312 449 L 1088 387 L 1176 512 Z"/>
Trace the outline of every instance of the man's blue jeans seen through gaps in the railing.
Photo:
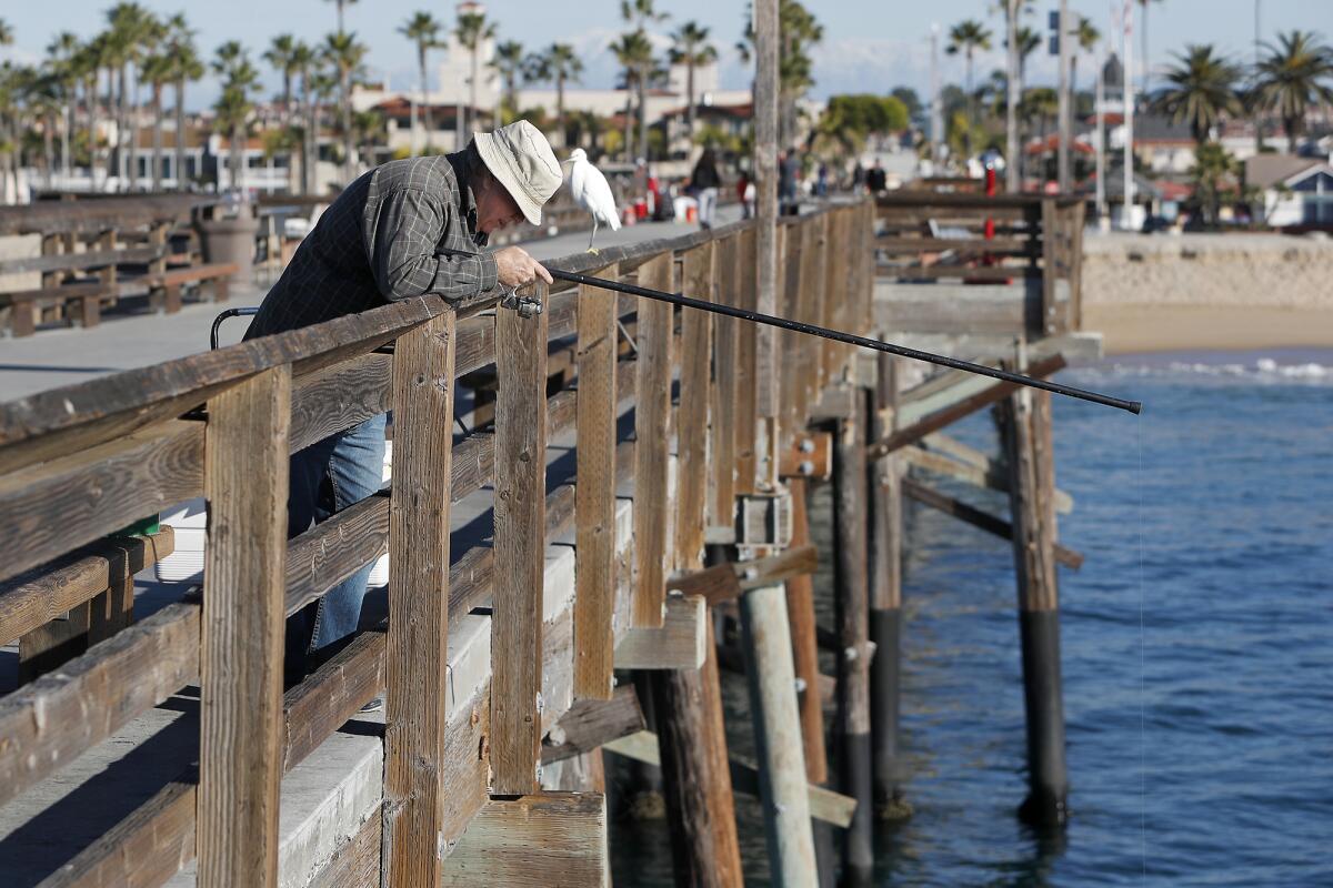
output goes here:
<path id="1" fill-rule="evenodd" d="M 384 423 L 384 414 L 372 417 L 292 455 L 288 539 L 383 486 Z M 299 680 L 312 654 L 356 632 L 373 566 L 373 562 L 367 564 L 288 618 L 288 683 Z"/>

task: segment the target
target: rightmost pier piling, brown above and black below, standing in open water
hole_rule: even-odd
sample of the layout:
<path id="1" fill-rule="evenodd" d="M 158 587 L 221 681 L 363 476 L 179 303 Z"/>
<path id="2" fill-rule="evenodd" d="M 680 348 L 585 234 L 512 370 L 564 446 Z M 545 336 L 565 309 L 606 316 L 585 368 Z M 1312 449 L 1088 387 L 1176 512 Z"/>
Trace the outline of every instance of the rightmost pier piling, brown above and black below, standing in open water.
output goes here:
<path id="1" fill-rule="evenodd" d="M 1018 812 L 1029 823 L 1060 825 L 1068 813 L 1069 774 L 1060 676 L 1050 395 L 1018 390 L 1000 405 L 998 415 L 1010 473 L 1022 696 L 1028 716 L 1029 793 Z"/>

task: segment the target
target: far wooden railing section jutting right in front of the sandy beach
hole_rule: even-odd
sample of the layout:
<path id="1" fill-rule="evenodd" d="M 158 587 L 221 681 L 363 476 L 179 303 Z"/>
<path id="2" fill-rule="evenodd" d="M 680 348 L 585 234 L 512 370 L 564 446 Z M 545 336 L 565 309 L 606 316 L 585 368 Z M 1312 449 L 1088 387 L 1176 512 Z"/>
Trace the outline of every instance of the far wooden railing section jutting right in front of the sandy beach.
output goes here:
<path id="1" fill-rule="evenodd" d="M 1040 282 L 1040 320 L 1032 318 L 1029 333 L 1081 326 L 1081 198 L 921 190 L 880 194 L 876 205 L 880 274 L 901 281 Z"/>

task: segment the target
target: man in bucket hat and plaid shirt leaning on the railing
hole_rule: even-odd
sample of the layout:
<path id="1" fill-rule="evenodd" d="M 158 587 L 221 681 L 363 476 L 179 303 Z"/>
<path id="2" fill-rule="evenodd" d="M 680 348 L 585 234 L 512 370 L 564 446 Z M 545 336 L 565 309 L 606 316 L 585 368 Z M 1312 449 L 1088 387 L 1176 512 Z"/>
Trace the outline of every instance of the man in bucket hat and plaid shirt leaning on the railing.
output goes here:
<path id="1" fill-rule="evenodd" d="M 525 120 L 476 133 L 460 152 L 396 160 L 352 182 L 301 242 L 269 290 L 247 339 L 436 294 L 463 300 L 551 274 L 517 246 L 487 252 L 488 236 L 528 220 L 560 186 L 560 164 Z M 381 414 L 311 445 L 291 463 L 288 537 L 379 490 Z M 361 616 L 371 566 L 343 580 L 287 626 L 287 683 L 299 682 Z M 365 710 L 376 710 L 373 700 Z"/>

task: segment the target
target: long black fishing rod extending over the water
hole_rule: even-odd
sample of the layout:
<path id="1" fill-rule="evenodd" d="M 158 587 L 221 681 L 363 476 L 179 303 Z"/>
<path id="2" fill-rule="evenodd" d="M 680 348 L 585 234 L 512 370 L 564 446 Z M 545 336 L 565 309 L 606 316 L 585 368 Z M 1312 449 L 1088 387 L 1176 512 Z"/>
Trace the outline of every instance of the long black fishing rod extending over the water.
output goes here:
<path id="1" fill-rule="evenodd" d="M 1080 401 L 1090 401 L 1092 403 L 1100 403 L 1106 407 L 1128 410 L 1134 415 L 1138 415 L 1138 413 L 1144 409 L 1144 403 L 1141 401 L 1125 401 L 1122 398 L 1113 398 L 1110 395 L 1098 394 L 1096 391 L 1089 391 L 1086 389 L 1066 386 L 1058 382 L 1048 382 L 1046 379 L 1037 379 L 1034 377 L 1028 377 L 1021 373 L 1010 373 L 1009 370 L 997 370 L 996 367 L 988 367 L 982 363 L 972 363 L 970 361 L 960 361 L 958 358 L 949 358 L 942 354 L 934 354 L 932 351 L 909 349 L 905 345 L 881 342 L 880 339 L 872 339 L 869 337 L 856 335 L 854 333 L 842 333 L 841 330 L 830 330 L 829 328 L 818 326 L 814 324 L 805 324 L 802 321 L 790 321 L 788 318 L 781 318 L 773 314 L 764 314 L 761 312 L 750 312 L 749 309 L 737 309 L 730 305 L 721 305 L 718 302 L 696 300 L 693 297 L 684 296 L 680 293 L 666 293 L 664 290 L 653 290 L 647 286 L 621 284 L 620 281 L 608 281 L 605 278 L 589 277 L 587 274 L 579 274 L 576 272 L 561 272 L 560 269 L 552 268 L 549 265 L 547 266 L 547 270 L 551 272 L 551 277 L 560 278 L 561 281 L 569 281 L 571 284 L 583 284 L 587 286 L 596 286 L 604 290 L 616 290 L 617 293 L 640 296 L 645 300 L 656 300 L 659 302 L 669 302 L 672 305 L 680 305 L 686 309 L 698 309 L 700 312 L 712 312 L 713 314 L 724 314 L 726 317 L 738 318 L 741 321 L 766 324 L 768 326 L 776 326 L 782 330 L 792 330 L 793 333 L 818 335 L 825 339 L 833 339 L 834 342 L 845 342 L 848 345 L 856 345 L 862 349 L 873 349 L 874 351 L 897 354 L 904 358 L 925 361 L 928 363 L 934 363 L 941 367 L 950 367 L 953 370 L 976 373 L 984 377 L 990 377 L 992 379 L 1000 379 L 1002 382 L 1013 382 L 1017 385 L 1028 386 L 1029 389 L 1041 389 L 1044 391 L 1052 391 L 1054 394 L 1062 394 L 1070 398 L 1078 398 Z"/>

